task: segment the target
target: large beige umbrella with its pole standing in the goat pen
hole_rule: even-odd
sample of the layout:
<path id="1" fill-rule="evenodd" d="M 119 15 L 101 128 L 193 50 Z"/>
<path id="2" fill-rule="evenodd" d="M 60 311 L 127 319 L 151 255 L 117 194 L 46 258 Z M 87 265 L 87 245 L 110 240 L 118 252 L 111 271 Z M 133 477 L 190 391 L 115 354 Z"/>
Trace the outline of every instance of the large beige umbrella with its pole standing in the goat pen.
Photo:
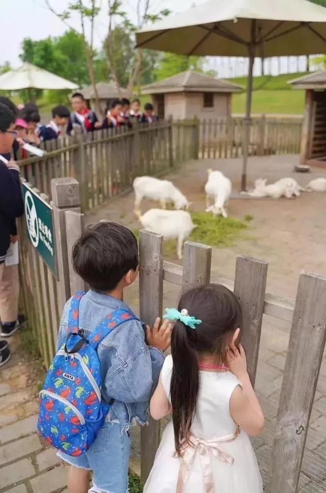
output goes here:
<path id="1" fill-rule="evenodd" d="M 307 0 L 210 0 L 145 26 L 137 33 L 137 46 L 182 55 L 249 57 L 245 190 L 255 56 L 325 52 L 326 8 Z"/>

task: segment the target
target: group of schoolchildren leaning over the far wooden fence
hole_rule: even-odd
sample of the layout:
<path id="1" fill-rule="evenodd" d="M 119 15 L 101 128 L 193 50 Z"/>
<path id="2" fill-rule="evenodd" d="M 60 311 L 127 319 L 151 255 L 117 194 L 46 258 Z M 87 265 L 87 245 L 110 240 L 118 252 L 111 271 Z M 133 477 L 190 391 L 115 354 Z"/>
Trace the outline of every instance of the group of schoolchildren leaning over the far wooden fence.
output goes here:
<path id="1" fill-rule="evenodd" d="M 87 107 L 83 94 L 76 92 L 71 97 L 70 112 L 65 106 L 56 106 L 52 109 L 52 118 L 47 125 L 40 123 L 38 108 L 33 103 L 23 105 L 16 119 L 17 140 L 14 146 L 16 158 L 19 142 L 22 140 L 33 145 L 39 145 L 46 140 L 57 139 L 65 132 L 68 135 L 74 133 L 76 127 L 80 127 L 83 133 L 94 132 L 99 129 L 117 128 L 121 126 L 132 127 L 135 120 L 138 122 L 152 122 L 157 120 L 151 103 L 146 103 L 144 112 L 140 111 L 141 104 L 138 99 L 130 101 L 114 99 L 107 106 L 105 118 L 102 123 L 94 111 Z M 22 156 L 24 157 L 24 156 Z"/>

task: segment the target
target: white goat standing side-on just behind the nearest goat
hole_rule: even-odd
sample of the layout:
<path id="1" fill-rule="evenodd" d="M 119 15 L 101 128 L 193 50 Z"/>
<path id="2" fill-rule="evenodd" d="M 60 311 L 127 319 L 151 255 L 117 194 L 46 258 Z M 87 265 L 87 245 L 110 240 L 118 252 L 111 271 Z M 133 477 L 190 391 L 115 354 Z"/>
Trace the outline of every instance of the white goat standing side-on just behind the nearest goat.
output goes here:
<path id="1" fill-rule="evenodd" d="M 145 198 L 159 201 L 163 209 L 166 209 L 168 202 L 173 202 L 175 209 L 189 207 L 185 196 L 168 180 L 141 176 L 133 180 L 132 186 L 135 194 L 134 209 L 137 213 L 141 213 L 140 205 Z"/>

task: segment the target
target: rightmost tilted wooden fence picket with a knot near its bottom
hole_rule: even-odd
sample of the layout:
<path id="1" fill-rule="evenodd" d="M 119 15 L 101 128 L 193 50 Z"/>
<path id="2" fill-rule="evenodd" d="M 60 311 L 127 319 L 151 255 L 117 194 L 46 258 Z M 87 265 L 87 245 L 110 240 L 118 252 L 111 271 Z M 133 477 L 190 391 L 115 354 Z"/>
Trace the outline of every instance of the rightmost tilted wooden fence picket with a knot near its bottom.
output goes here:
<path id="1" fill-rule="evenodd" d="M 326 276 L 299 279 L 269 468 L 270 493 L 295 493 L 326 340 Z"/>

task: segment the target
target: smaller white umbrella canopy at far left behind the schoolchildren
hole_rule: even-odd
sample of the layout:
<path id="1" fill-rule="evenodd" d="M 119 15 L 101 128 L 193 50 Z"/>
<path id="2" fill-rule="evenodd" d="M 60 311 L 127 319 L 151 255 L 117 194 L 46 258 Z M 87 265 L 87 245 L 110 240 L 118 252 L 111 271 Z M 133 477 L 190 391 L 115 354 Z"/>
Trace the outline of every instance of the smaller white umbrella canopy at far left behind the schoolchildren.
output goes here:
<path id="1" fill-rule="evenodd" d="M 78 89 L 78 85 L 31 63 L 23 63 L 21 67 L 0 76 L 0 90 L 17 91 L 32 88 L 74 90 Z"/>

